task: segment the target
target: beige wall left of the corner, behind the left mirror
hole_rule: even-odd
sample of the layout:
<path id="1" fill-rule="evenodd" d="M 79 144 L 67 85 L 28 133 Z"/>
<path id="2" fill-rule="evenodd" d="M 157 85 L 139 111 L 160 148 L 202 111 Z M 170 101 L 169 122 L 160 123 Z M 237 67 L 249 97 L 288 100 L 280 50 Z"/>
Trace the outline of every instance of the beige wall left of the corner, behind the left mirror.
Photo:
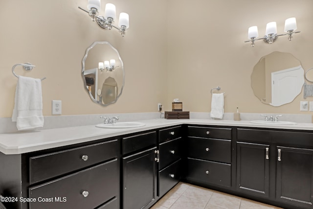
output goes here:
<path id="1" fill-rule="evenodd" d="M 31 72 L 16 73 L 41 78 L 44 115 L 51 115 L 51 100 L 62 100 L 63 115 L 156 111 L 166 103 L 167 0 L 110 0 L 117 14 L 130 15 L 123 38 L 117 31 L 101 29 L 88 14 L 87 0 L 0 1 L 0 117 L 11 117 L 17 78 L 14 64 L 30 62 Z M 104 5 L 108 1 L 102 0 Z M 160 15 L 165 14 L 165 15 Z M 82 59 L 94 41 L 108 41 L 120 53 L 125 69 L 125 88 L 118 102 L 108 107 L 95 104 L 83 85 Z"/>

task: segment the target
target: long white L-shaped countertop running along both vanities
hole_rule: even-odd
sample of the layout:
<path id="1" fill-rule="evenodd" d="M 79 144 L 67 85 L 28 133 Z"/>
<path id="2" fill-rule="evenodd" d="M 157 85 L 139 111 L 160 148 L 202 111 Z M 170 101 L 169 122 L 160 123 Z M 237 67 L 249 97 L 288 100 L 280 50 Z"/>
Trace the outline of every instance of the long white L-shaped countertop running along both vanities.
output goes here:
<path id="1" fill-rule="evenodd" d="M 140 122 L 143 122 L 146 125 L 137 128 L 122 129 L 97 128 L 95 125 L 87 125 L 0 134 L 0 152 L 7 155 L 22 154 L 181 124 L 313 130 L 313 123 L 297 123 L 296 125 L 267 125 L 255 124 L 245 120 L 234 121 L 212 119 L 149 119 L 141 120 Z"/>

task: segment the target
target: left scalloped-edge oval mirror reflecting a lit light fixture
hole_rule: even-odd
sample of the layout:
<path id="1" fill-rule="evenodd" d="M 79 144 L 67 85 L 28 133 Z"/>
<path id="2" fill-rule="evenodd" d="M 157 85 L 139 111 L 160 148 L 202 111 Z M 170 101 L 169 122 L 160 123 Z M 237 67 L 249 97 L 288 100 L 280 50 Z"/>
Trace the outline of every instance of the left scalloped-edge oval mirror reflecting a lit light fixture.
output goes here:
<path id="1" fill-rule="evenodd" d="M 96 41 L 86 49 L 82 76 L 92 101 L 107 106 L 121 95 L 125 72 L 118 51 L 106 41 Z"/>

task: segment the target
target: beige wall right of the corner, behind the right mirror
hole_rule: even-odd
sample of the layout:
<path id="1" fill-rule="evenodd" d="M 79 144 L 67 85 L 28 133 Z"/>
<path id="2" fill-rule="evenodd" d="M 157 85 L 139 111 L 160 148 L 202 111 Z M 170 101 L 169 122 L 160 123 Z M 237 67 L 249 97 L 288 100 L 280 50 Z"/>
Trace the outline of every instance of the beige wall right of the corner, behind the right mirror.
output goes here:
<path id="1" fill-rule="evenodd" d="M 179 98 L 184 110 L 209 112 L 210 90 L 220 86 L 225 112 L 239 107 L 246 113 L 312 114 L 299 111 L 303 92 L 290 104 L 272 107 L 257 99 L 250 84 L 254 65 L 273 51 L 290 52 L 305 70 L 313 67 L 312 8 L 312 0 L 169 0 L 168 101 Z M 291 42 L 284 36 L 272 45 L 244 43 L 249 26 L 257 25 L 261 38 L 268 22 L 276 21 L 283 33 L 290 17 L 301 31 Z"/>

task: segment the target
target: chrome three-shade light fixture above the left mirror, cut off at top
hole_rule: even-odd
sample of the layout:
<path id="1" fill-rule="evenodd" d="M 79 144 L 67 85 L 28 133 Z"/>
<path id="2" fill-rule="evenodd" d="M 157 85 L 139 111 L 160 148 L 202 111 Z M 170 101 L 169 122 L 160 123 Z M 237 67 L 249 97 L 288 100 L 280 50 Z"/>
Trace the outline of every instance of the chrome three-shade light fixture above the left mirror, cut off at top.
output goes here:
<path id="1" fill-rule="evenodd" d="M 112 3 L 107 3 L 105 7 L 104 16 L 97 16 L 98 11 L 101 8 L 100 0 L 88 0 L 87 8 L 89 11 L 78 7 L 81 10 L 87 12 L 91 17 L 91 20 L 94 22 L 95 20 L 100 25 L 100 27 L 111 30 L 112 27 L 118 30 L 121 35 L 124 37 L 126 29 L 129 28 L 129 15 L 127 13 L 120 13 L 118 20 L 118 27 L 114 26 L 114 20 L 116 19 L 116 11 L 115 5 Z"/>

